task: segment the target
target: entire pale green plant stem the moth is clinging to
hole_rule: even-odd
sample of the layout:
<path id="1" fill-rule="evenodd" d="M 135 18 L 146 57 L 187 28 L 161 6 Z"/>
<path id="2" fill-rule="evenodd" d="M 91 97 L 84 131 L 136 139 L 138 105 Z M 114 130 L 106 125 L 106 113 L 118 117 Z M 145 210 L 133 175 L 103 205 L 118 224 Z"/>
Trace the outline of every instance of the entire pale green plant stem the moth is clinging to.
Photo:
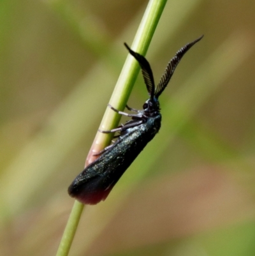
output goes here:
<path id="1" fill-rule="evenodd" d="M 166 1 L 167 0 L 149 1 L 149 4 L 143 15 L 143 19 L 135 35 L 133 44 L 131 46 L 132 49 L 136 52 L 139 52 L 143 55 L 146 54 L 150 45 L 150 41 L 152 40 L 154 31 L 161 17 L 161 14 L 163 13 Z M 135 83 L 138 72 L 138 63 L 136 63 L 133 57 L 128 56 L 122 68 L 122 72 L 120 73 L 112 97 L 110 99 L 110 105 L 113 105 L 113 107 L 119 110 L 124 109 L 126 103 L 128 102 L 128 98 L 133 88 L 133 84 Z M 105 115 L 103 116 L 103 119 L 100 124 L 100 129 L 110 130 L 111 128 L 117 126 L 119 121 L 119 115 L 117 115 L 113 111 L 110 111 L 110 109 L 106 109 Z M 95 160 L 95 156 L 93 156 L 93 154 L 95 152 L 101 151 L 103 147 L 110 144 L 111 139 L 111 135 L 105 133 L 96 134 L 91 150 L 89 151 L 89 154 L 87 156 L 85 166 L 87 166 L 89 163 Z M 59 249 L 57 250 L 57 256 L 68 255 L 83 209 L 84 205 L 75 201 L 75 204 L 73 205 L 73 209 L 68 219 L 68 223 L 66 225 L 66 229 L 64 230 L 64 234 L 62 236 Z"/>

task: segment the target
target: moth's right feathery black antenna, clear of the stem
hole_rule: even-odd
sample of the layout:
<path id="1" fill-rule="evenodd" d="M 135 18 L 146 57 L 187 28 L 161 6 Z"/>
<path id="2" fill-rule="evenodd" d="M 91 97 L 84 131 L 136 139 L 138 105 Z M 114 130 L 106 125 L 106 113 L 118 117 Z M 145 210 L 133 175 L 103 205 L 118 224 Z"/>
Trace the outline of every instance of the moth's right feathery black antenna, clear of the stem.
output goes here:
<path id="1" fill-rule="evenodd" d="M 191 47 L 193 47 L 193 45 L 195 43 L 197 43 L 198 41 L 200 41 L 202 38 L 203 38 L 203 36 L 200 36 L 200 38 L 194 40 L 193 42 L 187 43 L 187 45 L 182 47 L 175 54 L 175 57 L 173 57 L 173 59 L 171 59 L 171 61 L 166 66 L 166 70 L 164 71 L 164 73 L 159 81 L 159 84 L 157 85 L 156 92 L 155 92 L 156 98 L 159 97 L 159 95 L 164 91 L 164 88 L 168 85 L 168 82 L 170 81 L 171 76 L 173 75 L 173 72 L 175 71 L 175 68 L 179 64 L 179 62 L 182 59 L 182 57 L 184 56 L 184 54 L 186 54 L 186 52 L 189 49 L 191 49 Z"/>

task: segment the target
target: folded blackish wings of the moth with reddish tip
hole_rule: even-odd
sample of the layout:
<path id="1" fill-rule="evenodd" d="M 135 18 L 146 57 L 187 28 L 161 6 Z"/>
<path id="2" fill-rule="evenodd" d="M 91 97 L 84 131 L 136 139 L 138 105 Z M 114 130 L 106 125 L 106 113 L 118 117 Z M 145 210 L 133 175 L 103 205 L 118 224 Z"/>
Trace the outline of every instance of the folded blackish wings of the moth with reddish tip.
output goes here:
<path id="1" fill-rule="evenodd" d="M 113 186 L 129 165 L 154 138 L 161 126 L 161 115 L 150 117 L 147 122 L 120 133 L 110 149 L 88 165 L 68 188 L 71 197 L 83 204 L 97 204 L 105 200 Z"/>

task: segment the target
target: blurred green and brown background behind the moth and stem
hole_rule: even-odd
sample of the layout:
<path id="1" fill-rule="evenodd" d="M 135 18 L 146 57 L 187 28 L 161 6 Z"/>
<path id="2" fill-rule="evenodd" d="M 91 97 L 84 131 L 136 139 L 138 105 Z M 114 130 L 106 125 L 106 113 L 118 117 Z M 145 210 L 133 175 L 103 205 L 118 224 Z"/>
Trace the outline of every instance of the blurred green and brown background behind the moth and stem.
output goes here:
<path id="1" fill-rule="evenodd" d="M 147 1 L 0 3 L 0 255 L 55 255 Z M 168 1 L 147 54 L 162 128 L 105 202 L 86 206 L 70 255 L 255 255 L 254 1 Z M 147 92 L 139 75 L 129 105 Z"/>

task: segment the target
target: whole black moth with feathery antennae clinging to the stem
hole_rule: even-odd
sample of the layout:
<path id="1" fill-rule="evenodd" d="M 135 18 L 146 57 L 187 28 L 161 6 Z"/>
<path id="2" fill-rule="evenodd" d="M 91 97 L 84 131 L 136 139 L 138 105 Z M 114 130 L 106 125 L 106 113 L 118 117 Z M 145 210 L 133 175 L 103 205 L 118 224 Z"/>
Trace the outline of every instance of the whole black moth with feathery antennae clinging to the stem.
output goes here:
<path id="1" fill-rule="evenodd" d="M 120 134 L 116 136 L 118 139 L 111 146 L 106 147 L 99 153 L 99 158 L 78 174 L 68 188 L 68 193 L 71 197 L 83 204 L 97 204 L 106 199 L 129 165 L 159 132 L 161 114 L 159 112 L 158 98 L 168 85 L 182 56 L 202 37 L 200 36 L 193 42 L 187 43 L 175 54 L 175 57 L 166 66 L 166 70 L 157 87 L 155 87 L 152 70 L 147 59 L 131 50 L 126 43 L 124 44 L 129 53 L 140 64 L 150 98 L 143 104 L 143 110 L 135 110 L 127 106 L 128 110 L 134 111 L 136 114 L 126 114 L 108 105 L 113 111 L 131 117 L 131 120 L 113 130 L 100 131 L 103 133 L 119 132 Z"/>

